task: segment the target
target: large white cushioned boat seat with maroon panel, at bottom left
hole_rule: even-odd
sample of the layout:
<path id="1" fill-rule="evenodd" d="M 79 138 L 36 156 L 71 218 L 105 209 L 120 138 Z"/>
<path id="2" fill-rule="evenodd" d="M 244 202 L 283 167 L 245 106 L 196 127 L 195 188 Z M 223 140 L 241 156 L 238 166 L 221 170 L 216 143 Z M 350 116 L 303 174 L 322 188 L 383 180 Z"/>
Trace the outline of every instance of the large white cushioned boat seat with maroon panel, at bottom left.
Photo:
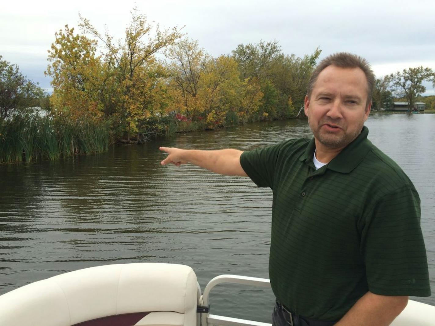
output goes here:
<path id="1" fill-rule="evenodd" d="M 97 266 L 3 294 L 0 326 L 195 326 L 199 295 L 189 266 Z"/>

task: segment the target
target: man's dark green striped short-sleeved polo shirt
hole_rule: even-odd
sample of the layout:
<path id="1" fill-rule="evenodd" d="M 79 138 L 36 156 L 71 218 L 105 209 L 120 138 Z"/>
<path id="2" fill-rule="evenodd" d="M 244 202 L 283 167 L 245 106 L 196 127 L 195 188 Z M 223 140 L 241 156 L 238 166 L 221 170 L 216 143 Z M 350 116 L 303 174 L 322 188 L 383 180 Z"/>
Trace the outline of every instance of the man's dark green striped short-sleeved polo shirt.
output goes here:
<path id="1" fill-rule="evenodd" d="M 292 312 L 340 319 L 367 291 L 430 296 L 420 199 L 368 129 L 315 170 L 314 138 L 244 152 L 244 171 L 273 190 L 269 276 Z"/>

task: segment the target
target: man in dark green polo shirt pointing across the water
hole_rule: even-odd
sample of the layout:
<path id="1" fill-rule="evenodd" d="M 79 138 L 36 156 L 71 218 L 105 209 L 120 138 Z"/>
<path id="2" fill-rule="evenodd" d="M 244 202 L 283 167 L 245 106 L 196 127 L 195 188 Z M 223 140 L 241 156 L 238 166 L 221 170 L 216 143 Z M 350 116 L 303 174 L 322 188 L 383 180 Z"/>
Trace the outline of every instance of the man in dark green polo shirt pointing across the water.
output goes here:
<path id="1" fill-rule="evenodd" d="M 430 296 L 418 194 L 367 139 L 374 80 L 361 57 L 322 60 L 305 96 L 311 140 L 247 152 L 161 147 L 162 165 L 193 163 L 273 190 L 274 325 L 389 325 L 408 296 Z"/>

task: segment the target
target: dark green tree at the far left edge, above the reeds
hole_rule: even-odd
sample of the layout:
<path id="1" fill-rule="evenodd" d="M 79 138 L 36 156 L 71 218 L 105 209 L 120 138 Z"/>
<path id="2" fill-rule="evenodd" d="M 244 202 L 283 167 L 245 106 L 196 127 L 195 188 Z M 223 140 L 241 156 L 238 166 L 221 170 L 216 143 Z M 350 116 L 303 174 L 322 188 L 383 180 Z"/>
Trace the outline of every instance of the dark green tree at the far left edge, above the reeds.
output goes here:
<path id="1" fill-rule="evenodd" d="M 0 119 L 29 106 L 40 106 L 45 98 L 43 89 L 27 80 L 16 64 L 1 59 L 0 55 Z"/>

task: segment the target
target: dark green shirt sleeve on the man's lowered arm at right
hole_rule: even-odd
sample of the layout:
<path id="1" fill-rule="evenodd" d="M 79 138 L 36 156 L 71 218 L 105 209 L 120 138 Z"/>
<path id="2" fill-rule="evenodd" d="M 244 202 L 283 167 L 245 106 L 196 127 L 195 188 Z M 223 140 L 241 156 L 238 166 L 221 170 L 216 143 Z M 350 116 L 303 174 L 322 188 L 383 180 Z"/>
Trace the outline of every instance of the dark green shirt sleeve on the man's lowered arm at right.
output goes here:
<path id="1" fill-rule="evenodd" d="M 420 199 L 407 185 L 376 202 L 361 237 L 370 292 L 430 296 Z"/>

